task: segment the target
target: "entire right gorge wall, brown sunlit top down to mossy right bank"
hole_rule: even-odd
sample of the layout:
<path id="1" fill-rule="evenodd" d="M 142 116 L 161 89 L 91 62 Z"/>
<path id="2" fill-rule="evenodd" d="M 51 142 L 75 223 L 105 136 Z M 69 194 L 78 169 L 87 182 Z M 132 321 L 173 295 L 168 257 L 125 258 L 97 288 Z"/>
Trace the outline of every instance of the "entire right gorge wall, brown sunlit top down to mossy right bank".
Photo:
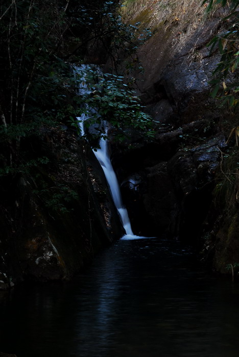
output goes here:
<path id="1" fill-rule="evenodd" d="M 208 82 L 220 55 L 207 46 L 222 29 L 222 13 L 200 18 L 202 24 L 196 19 L 194 27 L 193 16 L 191 23 L 180 18 L 170 26 L 164 19 L 163 26 L 152 18 L 157 8 L 148 8 L 150 18 L 146 8 L 142 21 L 151 21 L 157 30 L 140 47 L 145 72 L 135 75 L 156 135 L 154 140 L 139 139 L 134 132 L 126 144 L 113 143 L 113 163 L 136 234 L 194 245 L 203 250 L 207 264 L 225 273 L 228 264 L 239 261 L 237 202 L 228 209 L 229 201 L 215 198 L 223 181 L 222 158 L 231 150 L 225 144 L 231 113 L 210 97 Z"/>

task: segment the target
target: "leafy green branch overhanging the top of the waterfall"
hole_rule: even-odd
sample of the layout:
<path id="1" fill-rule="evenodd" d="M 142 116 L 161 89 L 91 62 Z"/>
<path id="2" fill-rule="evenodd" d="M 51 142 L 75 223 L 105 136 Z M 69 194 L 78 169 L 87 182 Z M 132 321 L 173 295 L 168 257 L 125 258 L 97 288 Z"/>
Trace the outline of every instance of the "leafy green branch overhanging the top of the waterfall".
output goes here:
<path id="1" fill-rule="evenodd" d="M 143 131 L 148 136 L 153 136 L 152 118 L 144 113 L 138 97 L 130 87 L 125 84 L 124 77 L 105 73 L 97 75 L 88 68 L 84 73 L 84 81 L 88 90 L 78 96 L 80 103 L 88 108 L 86 125 L 98 124 L 99 135 L 103 135 L 101 121 L 110 123 L 111 129 L 133 127 Z M 81 83 L 83 72 L 78 73 L 77 81 Z M 87 112 L 87 109 L 86 109 Z"/>

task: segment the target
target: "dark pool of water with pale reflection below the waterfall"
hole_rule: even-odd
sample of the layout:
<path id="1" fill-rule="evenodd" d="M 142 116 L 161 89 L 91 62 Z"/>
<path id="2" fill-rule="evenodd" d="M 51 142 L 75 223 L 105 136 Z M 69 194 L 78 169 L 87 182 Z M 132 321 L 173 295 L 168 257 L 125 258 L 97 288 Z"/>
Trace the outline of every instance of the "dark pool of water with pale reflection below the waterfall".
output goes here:
<path id="1" fill-rule="evenodd" d="M 239 286 L 160 239 L 119 241 L 71 283 L 0 299 L 0 350 L 18 357 L 238 357 Z"/>

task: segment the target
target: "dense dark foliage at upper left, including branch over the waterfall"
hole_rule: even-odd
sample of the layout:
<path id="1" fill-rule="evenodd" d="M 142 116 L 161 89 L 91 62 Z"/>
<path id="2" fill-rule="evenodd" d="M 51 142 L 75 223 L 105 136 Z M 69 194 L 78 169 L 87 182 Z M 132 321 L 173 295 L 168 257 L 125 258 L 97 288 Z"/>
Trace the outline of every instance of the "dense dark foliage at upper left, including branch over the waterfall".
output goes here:
<path id="1" fill-rule="evenodd" d="M 37 190 L 37 182 L 41 182 L 41 190 L 47 190 L 44 180 L 36 177 L 53 165 L 52 158 L 42 156 L 36 138 L 43 138 L 52 128 L 71 128 L 87 108 L 99 112 L 91 117 L 91 123 L 101 116 L 115 127 L 146 129 L 149 117 L 122 75 L 99 77 L 97 70 L 91 69 L 87 74 L 89 91 L 76 94 L 71 63 L 101 64 L 111 59 L 117 68 L 126 54 L 126 70 L 137 65 L 135 39 L 141 41 L 145 35 L 139 36 L 137 27 L 122 22 L 118 6 L 117 1 L 103 0 L 1 2 L 1 177 L 12 180 L 19 174 L 28 175 Z M 65 189 L 60 191 L 65 196 Z"/>

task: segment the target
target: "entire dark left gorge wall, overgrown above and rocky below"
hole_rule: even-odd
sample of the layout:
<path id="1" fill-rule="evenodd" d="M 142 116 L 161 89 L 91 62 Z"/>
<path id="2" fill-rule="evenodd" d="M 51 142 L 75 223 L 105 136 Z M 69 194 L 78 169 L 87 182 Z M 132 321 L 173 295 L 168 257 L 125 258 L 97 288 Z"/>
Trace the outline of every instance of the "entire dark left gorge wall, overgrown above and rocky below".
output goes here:
<path id="1" fill-rule="evenodd" d="M 124 234 L 103 171 L 73 129 L 85 103 L 70 73 L 71 63 L 109 56 L 116 7 L 1 2 L 0 289 L 69 278 Z"/>

